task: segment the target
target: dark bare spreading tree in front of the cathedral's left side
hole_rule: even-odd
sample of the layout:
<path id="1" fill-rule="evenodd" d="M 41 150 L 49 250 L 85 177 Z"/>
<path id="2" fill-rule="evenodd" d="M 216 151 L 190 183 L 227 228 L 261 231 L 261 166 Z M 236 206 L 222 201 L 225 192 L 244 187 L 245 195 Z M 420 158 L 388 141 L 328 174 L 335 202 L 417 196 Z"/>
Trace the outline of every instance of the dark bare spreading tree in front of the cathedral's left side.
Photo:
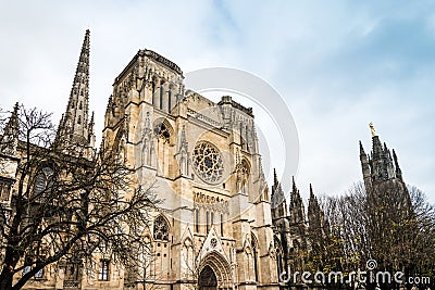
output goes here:
<path id="1" fill-rule="evenodd" d="M 0 142 L 0 173 L 17 164 L 10 202 L 0 204 L 0 290 L 21 289 L 57 262 L 137 259 L 130 245 L 148 247 L 142 234 L 158 202 L 152 185 L 138 186 L 111 148 L 92 159 L 69 154 L 77 148 L 54 138 L 50 114 L 23 106 L 15 113 L 15 154 L 5 130 Z"/>

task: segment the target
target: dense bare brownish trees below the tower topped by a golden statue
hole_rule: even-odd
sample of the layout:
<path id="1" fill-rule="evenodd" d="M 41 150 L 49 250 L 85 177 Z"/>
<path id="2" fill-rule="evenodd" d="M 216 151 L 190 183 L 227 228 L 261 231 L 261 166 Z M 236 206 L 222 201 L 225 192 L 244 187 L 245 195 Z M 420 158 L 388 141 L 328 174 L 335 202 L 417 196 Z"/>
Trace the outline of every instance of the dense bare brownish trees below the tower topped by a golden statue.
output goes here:
<path id="1" fill-rule="evenodd" d="M 359 182 L 344 196 L 327 198 L 324 211 L 331 225 L 330 264 L 335 270 L 364 270 L 366 261 L 375 260 L 376 270 L 433 280 L 435 212 L 421 190 L 385 182 L 365 192 Z"/>

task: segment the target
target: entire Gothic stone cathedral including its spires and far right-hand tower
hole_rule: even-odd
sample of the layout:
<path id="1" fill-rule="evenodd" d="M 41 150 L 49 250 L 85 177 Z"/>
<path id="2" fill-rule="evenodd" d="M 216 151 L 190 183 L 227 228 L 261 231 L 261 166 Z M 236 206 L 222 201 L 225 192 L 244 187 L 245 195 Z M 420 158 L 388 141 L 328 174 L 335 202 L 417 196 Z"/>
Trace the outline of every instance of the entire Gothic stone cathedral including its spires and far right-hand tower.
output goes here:
<path id="1" fill-rule="evenodd" d="M 252 109 L 231 96 L 213 102 L 186 89 L 183 79 L 174 62 L 139 50 L 115 77 L 107 103 L 101 147 L 115 151 L 139 185 L 154 182 L 162 200 L 145 235 L 152 243 L 146 270 L 135 276 L 109 260 L 100 261 L 95 275 L 83 275 L 80 265 L 69 272 L 55 265 L 23 289 L 277 290 L 287 288 L 279 281 L 287 267 L 303 267 L 302 256 L 313 247 L 309 226 L 327 231 L 311 186 L 308 211 L 295 180 L 288 205 L 276 173 L 270 192 Z M 16 114 L 15 108 L 3 141 L 13 139 L 8 134 L 17 125 Z M 91 159 L 97 152 L 94 126 L 87 30 L 55 139 L 65 153 Z M 391 159 L 377 137 L 373 142 L 370 161 L 361 147 L 365 185 L 400 181 L 396 154 Z M 1 154 L 17 160 L 16 150 L 12 142 Z M 12 200 L 14 180 L 13 167 L 0 177 L 3 204 Z"/>

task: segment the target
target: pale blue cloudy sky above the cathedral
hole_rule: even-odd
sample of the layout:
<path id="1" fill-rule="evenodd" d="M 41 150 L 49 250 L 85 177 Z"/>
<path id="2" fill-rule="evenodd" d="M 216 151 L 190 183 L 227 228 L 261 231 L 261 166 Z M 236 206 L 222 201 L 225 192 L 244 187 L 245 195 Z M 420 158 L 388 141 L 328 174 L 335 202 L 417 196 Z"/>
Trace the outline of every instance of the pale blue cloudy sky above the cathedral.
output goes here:
<path id="1" fill-rule="evenodd" d="M 89 28 L 97 137 L 115 76 L 147 48 L 185 73 L 233 67 L 270 84 L 297 126 L 303 198 L 310 182 L 341 194 L 361 180 L 358 142 L 370 151 L 373 122 L 405 181 L 435 203 L 433 1 L 0 2 L 2 109 L 18 101 L 58 124 Z"/>

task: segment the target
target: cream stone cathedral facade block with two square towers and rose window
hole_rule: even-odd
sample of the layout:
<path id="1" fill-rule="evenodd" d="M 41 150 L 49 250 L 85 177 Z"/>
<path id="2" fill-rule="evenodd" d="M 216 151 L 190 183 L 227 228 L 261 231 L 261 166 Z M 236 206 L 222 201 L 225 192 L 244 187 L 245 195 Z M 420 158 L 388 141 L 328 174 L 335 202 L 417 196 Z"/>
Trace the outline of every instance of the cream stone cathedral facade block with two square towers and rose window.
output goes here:
<path id="1" fill-rule="evenodd" d="M 101 146 L 162 200 L 144 234 L 153 261 L 125 277 L 138 272 L 162 289 L 277 289 L 252 109 L 229 96 L 215 103 L 185 90 L 183 79 L 175 63 L 139 50 L 108 101 Z"/>

